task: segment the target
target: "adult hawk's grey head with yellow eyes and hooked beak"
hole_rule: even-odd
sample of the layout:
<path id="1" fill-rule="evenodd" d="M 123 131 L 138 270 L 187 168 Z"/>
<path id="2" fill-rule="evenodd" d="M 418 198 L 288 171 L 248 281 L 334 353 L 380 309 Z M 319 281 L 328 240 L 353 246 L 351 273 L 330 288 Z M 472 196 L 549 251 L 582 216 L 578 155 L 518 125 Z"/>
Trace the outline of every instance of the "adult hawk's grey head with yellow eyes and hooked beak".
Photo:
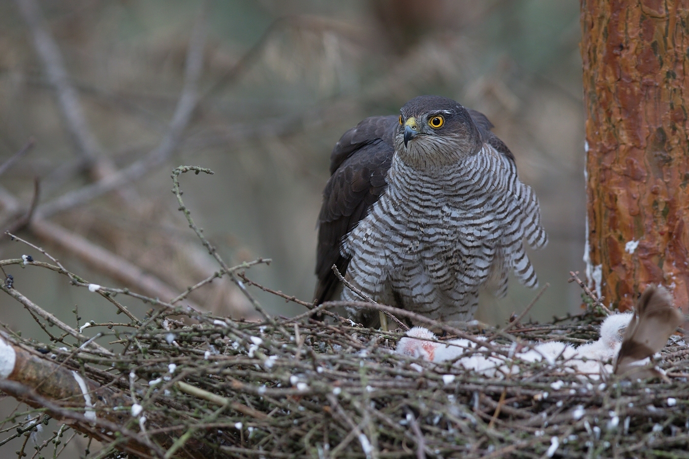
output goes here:
<path id="1" fill-rule="evenodd" d="M 415 169 L 443 167 L 481 149 L 481 134 L 471 114 L 440 96 L 418 96 L 400 110 L 395 151 Z"/>

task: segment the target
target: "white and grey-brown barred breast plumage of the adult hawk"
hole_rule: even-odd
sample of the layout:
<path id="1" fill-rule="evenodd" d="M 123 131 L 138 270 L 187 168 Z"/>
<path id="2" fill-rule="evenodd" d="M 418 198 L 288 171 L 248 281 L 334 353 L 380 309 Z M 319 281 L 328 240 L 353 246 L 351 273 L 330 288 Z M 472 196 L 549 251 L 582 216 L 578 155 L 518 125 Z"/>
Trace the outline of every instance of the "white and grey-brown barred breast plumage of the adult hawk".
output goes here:
<path id="1" fill-rule="evenodd" d="M 524 252 L 547 243 L 535 193 L 489 144 L 462 163 L 420 172 L 395 154 L 387 190 L 347 236 L 347 275 L 382 303 L 440 320 L 471 320 L 482 285 L 504 295 L 513 270 L 537 276 Z M 358 300 L 345 289 L 344 300 Z M 356 310 L 351 310 L 356 315 Z"/>

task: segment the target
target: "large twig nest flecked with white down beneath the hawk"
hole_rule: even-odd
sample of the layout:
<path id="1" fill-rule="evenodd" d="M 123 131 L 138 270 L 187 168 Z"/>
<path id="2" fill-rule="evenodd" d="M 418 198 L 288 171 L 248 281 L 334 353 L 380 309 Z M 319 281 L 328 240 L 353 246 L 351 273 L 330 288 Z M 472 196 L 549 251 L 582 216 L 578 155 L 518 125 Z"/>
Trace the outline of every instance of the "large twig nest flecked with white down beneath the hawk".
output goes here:
<path id="1" fill-rule="evenodd" d="M 176 170 L 175 183 L 187 170 L 199 169 Z M 178 183 L 175 190 L 189 218 Z M 89 284 L 54 260 L 0 263 L 54 269 L 106 297 L 130 319 L 85 328 L 99 331 L 94 340 L 31 303 L 6 279 L 2 289 L 46 332 L 50 325 L 65 330 L 50 334 L 50 343 L 11 331 L 3 336 L 17 363 L 0 389 L 34 407 L 12 426 L 17 430 L 10 438 L 26 438 L 20 456 L 32 431 L 48 418 L 63 427 L 39 443 L 34 456 L 45 454 L 50 440 L 69 429 L 101 442 L 99 458 L 689 456 L 689 348 L 683 341 L 657 359 L 669 382 L 585 380 L 559 363 L 518 360 L 518 374 L 484 378 L 451 362 L 395 354 L 402 329 L 361 327 L 327 310 L 338 303 L 319 307 L 327 320 L 313 318 L 313 309 L 294 318 L 269 316 L 247 290 L 243 271 L 251 264 L 221 265 L 216 273 L 230 276 L 263 315 L 249 322 L 201 313 L 181 300 L 164 303 Z M 155 307 L 137 318 L 116 300 L 123 294 Z M 474 332 L 495 335 L 496 345 L 584 343 L 597 338 L 603 316 L 599 307 L 589 307 L 546 325 Z M 119 350 L 97 344 L 104 339 Z"/>

